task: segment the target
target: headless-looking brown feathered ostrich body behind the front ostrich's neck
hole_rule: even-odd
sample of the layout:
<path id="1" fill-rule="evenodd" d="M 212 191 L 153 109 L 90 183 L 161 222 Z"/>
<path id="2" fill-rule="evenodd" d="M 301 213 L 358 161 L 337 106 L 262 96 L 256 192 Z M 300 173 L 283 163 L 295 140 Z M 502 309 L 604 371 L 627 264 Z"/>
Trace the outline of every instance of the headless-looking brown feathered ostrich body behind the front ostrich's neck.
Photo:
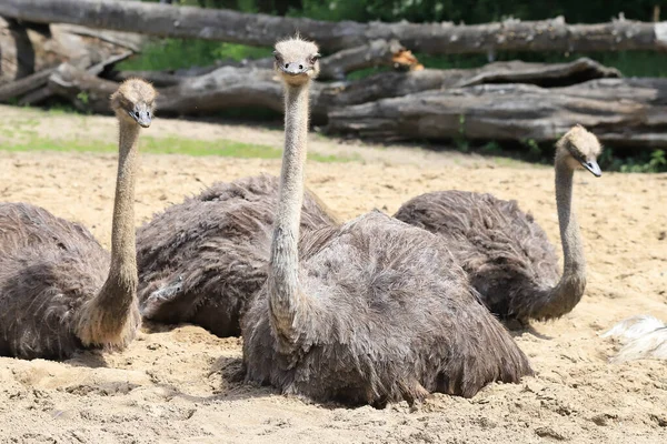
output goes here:
<path id="1" fill-rule="evenodd" d="M 238 336 L 247 301 L 267 279 L 278 183 L 266 174 L 218 182 L 140 228 L 143 317 L 191 322 L 218 336 Z M 305 232 L 337 223 L 312 193 L 302 210 Z"/>

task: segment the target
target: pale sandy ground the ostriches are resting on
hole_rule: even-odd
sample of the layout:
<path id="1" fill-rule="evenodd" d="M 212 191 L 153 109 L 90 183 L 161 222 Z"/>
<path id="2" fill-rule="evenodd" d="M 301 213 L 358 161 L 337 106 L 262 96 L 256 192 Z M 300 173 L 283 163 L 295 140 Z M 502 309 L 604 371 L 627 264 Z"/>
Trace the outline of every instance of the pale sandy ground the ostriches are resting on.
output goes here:
<path id="1" fill-rule="evenodd" d="M 0 107 L 0 129 L 33 112 Z M 32 130 L 41 137 L 116 137 L 111 118 L 39 119 Z M 146 133 L 281 144 L 279 130 L 167 119 Z M 431 190 L 492 191 L 518 200 L 559 242 L 549 168 L 317 134 L 311 149 L 359 159 L 307 168 L 308 185 L 344 219 L 374 208 L 392 213 Z M 115 155 L 0 150 L 0 201 L 42 205 L 109 245 Z M 137 224 L 217 180 L 262 171 L 277 174 L 279 161 L 142 155 Z M 435 394 L 412 408 L 307 404 L 235 381 L 240 339 L 147 325 L 122 353 L 1 357 L 0 442 L 666 443 L 667 363 L 608 364 L 616 345 L 598 335 L 634 314 L 667 320 L 667 174 L 578 172 L 575 183 L 588 286 L 570 314 L 516 335 L 537 372 L 520 384 L 491 384 L 471 400 Z"/>

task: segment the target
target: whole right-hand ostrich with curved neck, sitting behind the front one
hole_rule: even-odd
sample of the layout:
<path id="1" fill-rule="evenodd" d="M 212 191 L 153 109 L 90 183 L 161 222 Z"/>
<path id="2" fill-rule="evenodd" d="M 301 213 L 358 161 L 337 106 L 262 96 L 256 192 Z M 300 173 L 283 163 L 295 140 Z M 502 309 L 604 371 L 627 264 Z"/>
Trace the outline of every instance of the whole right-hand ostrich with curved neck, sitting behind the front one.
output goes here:
<path id="1" fill-rule="evenodd" d="M 516 201 L 491 194 L 439 191 L 406 202 L 395 218 L 447 241 L 487 307 L 526 324 L 569 313 L 586 286 L 579 224 L 571 208 L 573 175 L 585 168 L 600 176 L 597 138 L 580 125 L 556 144 L 556 205 L 563 242 L 559 275 L 555 249 L 532 215 Z"/>

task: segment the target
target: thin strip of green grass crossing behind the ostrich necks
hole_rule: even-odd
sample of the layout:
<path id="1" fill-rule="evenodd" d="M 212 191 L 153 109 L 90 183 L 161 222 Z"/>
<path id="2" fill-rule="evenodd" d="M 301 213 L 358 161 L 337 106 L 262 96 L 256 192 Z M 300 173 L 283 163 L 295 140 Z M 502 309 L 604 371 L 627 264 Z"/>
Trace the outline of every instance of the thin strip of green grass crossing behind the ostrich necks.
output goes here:
<path id="1" fill-rule="evenodd" d="M 46 139 L 39 137 L 21 138 L 23 140 L 1 143 L 4 151 L 62 151 L 62 152 L 117 152 L 116 143 L 106 143 L 89 140 Z M 226 139 L 216 141 L 189 140 L 181 138 L 152 138 L 142 137 L 139 150 L 151 154 L 183 154 L 192 157 L 213 155 L 238 159 L 280 159 L 282 150 L 257 143 L 237 142 Z M 316 162 L 350 162 L 358 157 L 339 157 L 310 153 L 309 160 Z"/>

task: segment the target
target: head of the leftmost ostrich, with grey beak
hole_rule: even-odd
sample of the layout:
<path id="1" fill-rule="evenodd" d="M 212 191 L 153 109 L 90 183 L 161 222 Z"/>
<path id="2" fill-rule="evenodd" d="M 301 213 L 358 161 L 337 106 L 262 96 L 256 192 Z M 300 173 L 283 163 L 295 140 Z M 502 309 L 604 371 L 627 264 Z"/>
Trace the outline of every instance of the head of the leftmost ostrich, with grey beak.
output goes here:
<path id="1" fill-rule="evenodd" d="M 128 79 L 111 94 L 111 109 L 121 122 L 150 127 L 158 95 L 153 87 L 141 79 Z"/>

